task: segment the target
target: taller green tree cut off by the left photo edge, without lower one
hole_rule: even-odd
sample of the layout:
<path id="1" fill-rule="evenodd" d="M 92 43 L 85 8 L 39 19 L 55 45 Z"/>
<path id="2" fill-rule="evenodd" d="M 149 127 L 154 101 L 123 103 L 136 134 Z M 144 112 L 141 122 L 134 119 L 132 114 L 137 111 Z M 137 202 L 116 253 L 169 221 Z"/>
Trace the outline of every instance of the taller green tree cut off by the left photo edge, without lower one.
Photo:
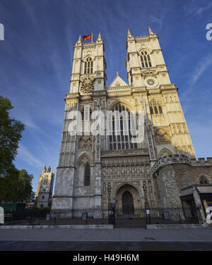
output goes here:
<path id="1" fill-rule="evenodd" d="M 11 109 L 13 109 L 11 101 L 7 97 L 0 96 L 0 177 L 13 171 L 18 141 L 24 130 L 23 123 L 9 117 Z"/>

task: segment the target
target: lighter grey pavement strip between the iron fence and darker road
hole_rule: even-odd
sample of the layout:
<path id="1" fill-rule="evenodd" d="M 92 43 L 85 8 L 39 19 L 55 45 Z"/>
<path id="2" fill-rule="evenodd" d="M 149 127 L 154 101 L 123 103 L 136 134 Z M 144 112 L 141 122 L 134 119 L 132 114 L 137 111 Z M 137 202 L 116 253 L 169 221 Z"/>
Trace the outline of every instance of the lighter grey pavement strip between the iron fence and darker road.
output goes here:
<path id="1" fill-rule="evenodd" d="M 1 229 L 0 240 L 212 242 L 212 228 Z"/>

